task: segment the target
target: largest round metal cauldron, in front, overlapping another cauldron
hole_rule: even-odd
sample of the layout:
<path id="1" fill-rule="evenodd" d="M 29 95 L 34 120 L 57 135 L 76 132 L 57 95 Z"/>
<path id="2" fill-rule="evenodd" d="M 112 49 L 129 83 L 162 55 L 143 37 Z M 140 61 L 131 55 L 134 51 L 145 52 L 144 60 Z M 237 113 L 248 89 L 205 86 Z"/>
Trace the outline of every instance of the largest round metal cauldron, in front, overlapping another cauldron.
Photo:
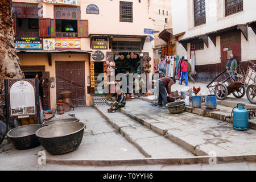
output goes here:
<path id="1" fill-rule="evenodd" d="M 85 128 L 85 124 L 81 122 L 57 123 L 39 129 L 36 136 L 47 152 L 60 155 L 80 146 Z"/>

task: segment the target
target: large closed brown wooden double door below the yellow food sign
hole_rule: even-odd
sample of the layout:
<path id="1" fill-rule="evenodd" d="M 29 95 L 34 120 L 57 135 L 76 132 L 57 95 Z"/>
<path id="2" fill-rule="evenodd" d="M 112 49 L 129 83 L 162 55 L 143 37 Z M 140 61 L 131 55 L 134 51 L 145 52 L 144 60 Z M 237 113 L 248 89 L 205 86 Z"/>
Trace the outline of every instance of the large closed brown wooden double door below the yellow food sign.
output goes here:
<path id="1" fill-rule="evenodd" d="M 72 104 L 85 106 L 84 61 L 56 61 L 56 97 L 64 90 L 72 92 Z"/>

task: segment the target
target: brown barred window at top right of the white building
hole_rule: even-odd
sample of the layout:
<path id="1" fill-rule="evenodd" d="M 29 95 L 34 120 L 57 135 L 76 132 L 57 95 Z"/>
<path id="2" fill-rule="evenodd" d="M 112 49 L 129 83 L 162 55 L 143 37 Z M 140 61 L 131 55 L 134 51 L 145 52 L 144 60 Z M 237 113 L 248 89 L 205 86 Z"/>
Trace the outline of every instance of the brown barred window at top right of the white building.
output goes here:
<path id="1" fill-rule="evenodd" d="M 229 16 L 243 11 L 243 0 L 225 0 L 225 15 Z"/>

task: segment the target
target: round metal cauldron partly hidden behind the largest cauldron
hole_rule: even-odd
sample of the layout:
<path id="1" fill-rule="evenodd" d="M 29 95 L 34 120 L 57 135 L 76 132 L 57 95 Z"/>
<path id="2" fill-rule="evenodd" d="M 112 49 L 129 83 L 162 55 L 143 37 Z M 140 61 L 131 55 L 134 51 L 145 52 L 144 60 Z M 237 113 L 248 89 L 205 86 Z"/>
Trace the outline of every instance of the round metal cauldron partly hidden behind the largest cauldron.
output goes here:
<path id="1" fill-rule="evenodd" d="M 10 130 L 7 136 L 10 137 L 11 142 L 13 142 L 14 147 L 19 150 L 26 150 L 29 148 L 34 148 L 40 146 L 38 137 L 36 137 L 36 130 L 42 128 L 43 125 L 27 125 L 15 127 L 15 129 Z"/>

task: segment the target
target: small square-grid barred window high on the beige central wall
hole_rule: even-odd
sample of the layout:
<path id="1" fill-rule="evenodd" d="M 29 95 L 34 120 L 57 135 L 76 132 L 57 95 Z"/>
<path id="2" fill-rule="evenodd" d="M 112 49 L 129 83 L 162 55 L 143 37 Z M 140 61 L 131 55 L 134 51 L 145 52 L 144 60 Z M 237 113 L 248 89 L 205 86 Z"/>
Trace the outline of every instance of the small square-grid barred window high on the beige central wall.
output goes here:
<path id="1" fill-rule="evenodd" d="M 133 2 L 120 1 L 120 22 L 133 22 Z"/>

